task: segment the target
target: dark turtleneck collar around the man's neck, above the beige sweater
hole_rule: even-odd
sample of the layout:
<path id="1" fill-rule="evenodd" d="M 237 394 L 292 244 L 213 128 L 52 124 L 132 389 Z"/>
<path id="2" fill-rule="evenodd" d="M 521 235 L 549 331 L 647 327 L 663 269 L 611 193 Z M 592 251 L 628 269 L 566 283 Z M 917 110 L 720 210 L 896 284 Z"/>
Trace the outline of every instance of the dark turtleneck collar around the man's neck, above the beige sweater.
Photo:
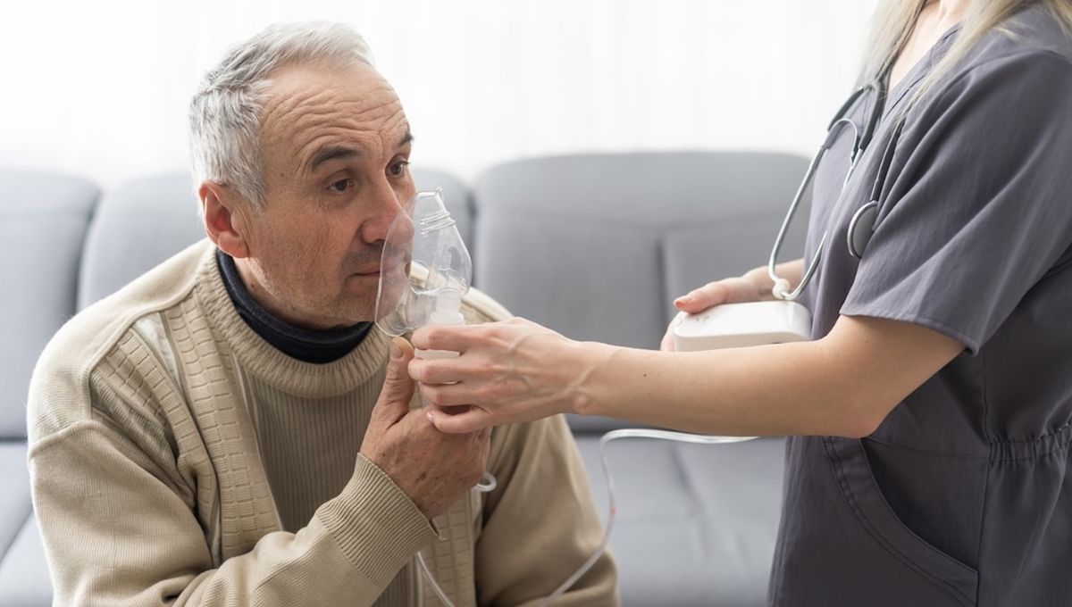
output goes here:
<path id="1" fill-rule="evenodd" d="M 283 322 L 253 299 L 229 255 L 217 249 L 215 259 L 238 316 L 265 342 L 293 359 L 322 364 L 339 360 L 356 348 L 372 329 L 371 322 L 359 322 L 344 329 L 310 331 Z"/>

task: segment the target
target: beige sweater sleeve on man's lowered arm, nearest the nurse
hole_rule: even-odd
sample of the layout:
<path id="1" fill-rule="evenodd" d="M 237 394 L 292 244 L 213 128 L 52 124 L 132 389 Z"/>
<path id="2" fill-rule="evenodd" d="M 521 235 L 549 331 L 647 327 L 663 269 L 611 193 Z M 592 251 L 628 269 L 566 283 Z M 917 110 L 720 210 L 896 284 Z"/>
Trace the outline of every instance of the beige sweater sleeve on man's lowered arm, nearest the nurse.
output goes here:
<path id="1" fill-rule="evenodd" d="M 504 426 L 491 454 L 498 481 L 488 495 L 476 544 L 480 605 L 535 607 L 596 550 L 604 528 L 584 465 L 562 415 Z M 555 602 L 616 606 L 609 550 Z"/>

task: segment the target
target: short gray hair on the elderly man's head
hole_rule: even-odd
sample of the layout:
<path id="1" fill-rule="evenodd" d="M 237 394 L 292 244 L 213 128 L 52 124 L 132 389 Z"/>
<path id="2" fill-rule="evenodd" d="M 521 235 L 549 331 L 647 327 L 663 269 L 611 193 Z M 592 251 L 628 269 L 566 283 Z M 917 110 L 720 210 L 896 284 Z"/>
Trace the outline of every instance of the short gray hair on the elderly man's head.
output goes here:
<path id="1" fill-rule="evenodd" d="M 260 111 L 280 67 L 329 62 L 372 65 L 369 46 L 342 24 L 276 24 L 230 49 L 190 103 L 194 183 L 233 186 L 254 207 L 264 201 Z"/>

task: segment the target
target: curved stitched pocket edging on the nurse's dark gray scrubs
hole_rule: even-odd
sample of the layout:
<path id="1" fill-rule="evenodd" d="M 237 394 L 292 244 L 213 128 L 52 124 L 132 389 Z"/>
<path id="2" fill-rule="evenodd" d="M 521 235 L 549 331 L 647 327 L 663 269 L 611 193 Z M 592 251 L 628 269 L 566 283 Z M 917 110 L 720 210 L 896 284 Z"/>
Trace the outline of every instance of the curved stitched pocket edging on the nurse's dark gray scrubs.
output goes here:
<path id="1" fill-rule="evenodd" d="M 909 529 L 882 496 L 859 440 L 824 437 L 837 485 L 857 522 L 891 557 L 944 594 L 952 605 L 977 604 L 979 572 L 928 544 Z"/>

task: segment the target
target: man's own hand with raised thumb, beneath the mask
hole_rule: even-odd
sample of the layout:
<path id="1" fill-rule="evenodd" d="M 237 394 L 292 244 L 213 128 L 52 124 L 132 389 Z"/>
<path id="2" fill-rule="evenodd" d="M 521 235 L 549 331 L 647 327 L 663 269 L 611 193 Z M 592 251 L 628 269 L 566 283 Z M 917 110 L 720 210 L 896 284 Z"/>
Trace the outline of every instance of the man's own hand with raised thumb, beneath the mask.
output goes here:
<path id="1" fill-rule="evenodd" d="M 456 502 L 483 474 L 491 428 L 449 435 L 432 425 L 425 410 L 410 410 L 414 382 L 406 366 L 413 347 L 391 340 L 391 360 L 361 442 L 361 455 L 375 464 L 432 518 Z"/>

